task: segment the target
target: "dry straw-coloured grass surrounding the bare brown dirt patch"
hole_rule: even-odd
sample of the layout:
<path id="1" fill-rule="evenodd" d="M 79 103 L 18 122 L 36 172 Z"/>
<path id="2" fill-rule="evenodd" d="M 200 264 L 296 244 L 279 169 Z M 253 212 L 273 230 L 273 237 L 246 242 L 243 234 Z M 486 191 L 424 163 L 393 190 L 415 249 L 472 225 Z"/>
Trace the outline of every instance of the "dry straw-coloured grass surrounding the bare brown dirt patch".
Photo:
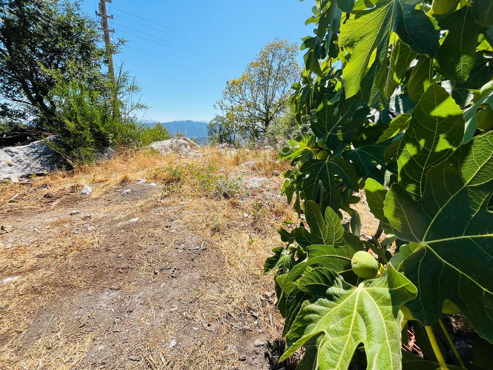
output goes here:
<path id="1" fill-rule="evenodd" d="M 146 151 L 123 152 L 99 165 L 38 177 L 32 186 L 1 187 L 1 211 L 9 222 L 15 219 L 27 229 L 28 225 L 39 223 L 41 216 L 53 216 L 46 223 L 53 230 L 49 236 L 34 231 L 24 233 L 21 240 L 12 238 L 12 234 L 2 236 L 0 277 L 22 275 L 22 278 L 0 285 L 1 369 L 79 368 L 91 343 L 104 335 L 96 331 L 74 337 L 67 333 L 63 320 L 59 320 L 54 329 L 50 320 L 50 328 L 44 328 L 40 339 L 26 343 L 24 337 L 26 331 L 36 325 L 36 315 L 48 302 L 60 302 L 51 312 L 53 316 L 63 317 L 69 313 L 72 291 L 91 291 L 91 272 L 81 271 L 79 256 L 84 250 L 97 249 L 107 236 L 104 233 L 69 236 L 66 230 L 73 226 L 73 219 L 66 216 L 67 209 L 77 207 L 77 202 L 82 201 L 78 192 L 83 185 L 93 188 L 91 199 L 97 203 L 97 213 L 116 214 L 117 221 L 127 220 L 133 213 L 149 213 L 158 207 L 176 208 L 179 204 L 184 226 L 205 240 L 206 246 L 224 260 L 221 265 L 205 267 L 202 271 L 205 278 L 191 287 L 195 299 L 182 313 L 185 321 L 214 323 L 217 325 L 215 333 L 208 339 L 197 339 L 192 346 L 177 353 L 163 346 L 163 342 L 169 343 L 180 329 L 181 323 L 169 322 L 159 333 L 145 340 L 130 336 L 128 343 L 122 344 L 124 351 L 140 353 L 143 360 L 115 364 L 114 368 L 124 365 L 128 369 L 226 369 L 230 366 L 247 369 L 247 364 L 237 361 L 235 327 L 248 324 L 253 328 L 255 321 L 252 330 L 266 337 L 279 336 L 282 321 L 273 300 L 263 296 L 265 291 L 273 289 L 272 276 L 262 274 L 262 265 L 270 250 L 280 243 L 276 229 L 282 221 L 292 218 L 291 207 L 277 196 L 283 179 L 272 176 L 272 171 L 284 168 L 276 163 L 273 152 L 239 150 L 230 155 L 208 149 L 204 154 L 202 158 L 178 158 Z M 239 165 L 246 161 L 255 162 L 251 174 L 240 172 Z M 183 177 L 175 179 L 173 169 L 183 170 Z M 262 193 L 242 189 L 228 199 L 214 194 L 214 188 L 209 186 L 238 176 L 269 178 L 272 189 Z M 132 209 L 125 202 L 104 202 L 120 187 L 138 178 L 164 185 L 164 195 L 157 193 L 133 205 Z M 170 186 L 174 184 L 179 186 Z M 17 193 L 15 203 L 8 203 Z M 64 224 L 70 227 L 64 229 Z M 143 234 L 159 237 L 164 232 L 150 227 L 142 220 Z M 49 257 L 40 259 L 40 255 Z M 150 279 L 152 264 L 162 263 L 160 258 L 155 256 L 151 263 L 139 261 L 140 277 Z M 64 281 L 66 276 L 72 277 L 70 284 L 45 284 L 46 281 Z M 33 290 L 39 294 L 31 294 Z M 156 303 L 149 300 L 145 320 L 155 316 L 157 309 Z"/>

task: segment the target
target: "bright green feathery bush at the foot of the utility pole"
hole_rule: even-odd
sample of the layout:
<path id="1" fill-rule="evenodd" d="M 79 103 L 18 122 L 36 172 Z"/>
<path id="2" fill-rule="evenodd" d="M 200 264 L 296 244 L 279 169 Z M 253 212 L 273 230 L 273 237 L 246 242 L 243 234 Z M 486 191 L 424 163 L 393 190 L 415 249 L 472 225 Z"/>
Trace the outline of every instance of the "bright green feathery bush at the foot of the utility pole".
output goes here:
<path id="1" fill-rule="evenodd" d="M 135 79 L 121 68 L 116 85 L 104 81 L 98 89 L 84 81 L 62 80 L 51 93 L 56 119 L 47 121 L 58 139 L 46 143 L 73 165 L 94 161 L 107 147 L 141 148 L 169 139 L 169 131 L 161 124 L 147 127 L 138 121 L 135 112 L 147 109 L 133 100 L 139 91 Z"/>

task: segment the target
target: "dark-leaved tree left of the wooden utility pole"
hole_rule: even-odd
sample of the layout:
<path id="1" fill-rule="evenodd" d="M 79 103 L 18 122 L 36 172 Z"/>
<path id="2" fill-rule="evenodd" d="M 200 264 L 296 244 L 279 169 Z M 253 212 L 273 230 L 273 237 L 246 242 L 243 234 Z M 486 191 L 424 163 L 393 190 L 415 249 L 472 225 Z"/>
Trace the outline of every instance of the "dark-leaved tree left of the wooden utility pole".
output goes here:
<path id="1" fill-rule="evenodd" d="M 0 0 L 0 17 L 1 117 L 53 120 L 59 76 L 99 79 L 105 50 L 78 1 Z"/>

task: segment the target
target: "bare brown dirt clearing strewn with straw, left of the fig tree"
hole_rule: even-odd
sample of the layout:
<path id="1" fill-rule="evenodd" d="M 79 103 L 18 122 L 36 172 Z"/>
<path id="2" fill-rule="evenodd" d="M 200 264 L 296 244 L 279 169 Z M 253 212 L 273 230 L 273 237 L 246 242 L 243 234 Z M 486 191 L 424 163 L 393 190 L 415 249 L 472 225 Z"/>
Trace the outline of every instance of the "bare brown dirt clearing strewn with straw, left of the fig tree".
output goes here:
<path id="1" fill-rule="evenodd" d="M 272 277 L 259 277 L 271 247 L 248 240 L 275 229 L 245 211 L 278 200 L 275 180 L 213 205 L 128 180 L 88 196 L 41 186 L 40 207 L 4 206 L 15 229 L 0 235 L 0 368 L 270 369 L 281 322 Z M 202 226 L 183 223 L 201 202 Z M 222 221 L 231 207 L 245 219 L 236 234 Z"/>

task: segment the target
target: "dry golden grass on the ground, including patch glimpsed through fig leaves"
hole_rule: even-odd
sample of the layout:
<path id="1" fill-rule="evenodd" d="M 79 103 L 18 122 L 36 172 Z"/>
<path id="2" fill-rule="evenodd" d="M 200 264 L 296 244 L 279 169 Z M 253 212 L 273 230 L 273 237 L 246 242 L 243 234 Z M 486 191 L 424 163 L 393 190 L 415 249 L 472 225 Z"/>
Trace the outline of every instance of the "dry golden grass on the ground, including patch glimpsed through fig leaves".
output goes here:
<path id="1" fill-rule="evenodd" d="M 142 323 L 139 332 L 125 332 L 125 340 L 115 346 L 125 356 L 106 364 L 106 368 L 261 368 L 260 364 L 255 367 L 238 361 L 239 346 L 243 336 L 281 337 L 282 318 L 275 298 L 269 294 L 274 288 L 272 276 L 264 275 L 262 267 L 271 250 L 281 243 L 277 228 L 287 219 L 295 221 L 292 207 L 279 196 L 283 179 L 273 173 L 286 167 L 276 162 L 272 151 L 242 149 L 231 153 L 208 148 L 203 154 L 179 158 L 152 151 L 122 152 L 98 165 L 38 177 L 32 186 L 0 188 L 2 216 L 23 229 L 22 238 L 15 238 L 15 232 L 0 236 L 0 278 L 22 276 L 15 283 L 0 284 L 0 369 L 93 369 L 83 365 L 84 356 L 107 335 L 105 328 L 76 335 L 65 326 L 70 324 L 67 317 L 74 310 L 70 299 L 75 292 L 89 294 L 94 290 L 95 271 L 81 256 L 100 253 L 100 246 L 124 238 L 114 226 L 136 215 L 140 217 L 139 230 L 124 242 L 148 245 L 160 241 L 163 245 L 152 256 L 135 256 L 138 276 L 118 281 L 127 294 L 119 301 L 145 293 L 134 283 L 136 279 L 158 287 L 166 282 L 166 275 L 154 271 L 173 263 L 169 256 L 175 246 L 186 242 L 183 235 L 170 233 L 171 228 L 192 232 L 221 263 L 206 263 L 201 267 L 201 278 L 183 288 L 190 297 L 177 320 L 160 319 L 161 302 L 147 296 L 136 319 Z M 254 164 L 241 166 L 249 161 Z M 239 177 L 265 177 L 268 185 L 236 189 Z M 117 190 L 135 184 L 138 178 L 158 183 L 163 191 L 132 202 L 115 196 Z M 94 190 L 90 203 L 78 194 L 83 185 Z M 229 186 L 226 196 L 225 185 Z M 15 203 L 8 203 L 17 193 Z M 69 229 L 81 225 L 68 216 L 68 210 L 75 208 L 94 214 L 95 224 L 110 231 L 70 233 Z M 377 223 L 367 208 L 363 204 L 354 208 L 361 215 L 362 231 L 373 234 Z M 166 218 L 174 221 L 164 222 Z M 167 223 L 173 226 L 168 228 Z M 46 226 L 50 226 L 50 233 L 33 231 Z M 102 254 L 96 260 L 108 256 Z M 56 304 L 50 306 L 53 302 Z M 48 324 L 39 328 L 43 335 L 26 342 L 26 333 L 40 325 L 35 320 L 46 311 L 60 319 L 56 323 L 45 320 L 43 323 Z M 197 335 L 187 346 L 169 348 L 185 326 L 202 323 L 211 323 L 215 332 Z M 242 332 L 244 327 L 250 329 Z M 127 355 L 138 355 L 142 360 L 128 361 Z"/>

